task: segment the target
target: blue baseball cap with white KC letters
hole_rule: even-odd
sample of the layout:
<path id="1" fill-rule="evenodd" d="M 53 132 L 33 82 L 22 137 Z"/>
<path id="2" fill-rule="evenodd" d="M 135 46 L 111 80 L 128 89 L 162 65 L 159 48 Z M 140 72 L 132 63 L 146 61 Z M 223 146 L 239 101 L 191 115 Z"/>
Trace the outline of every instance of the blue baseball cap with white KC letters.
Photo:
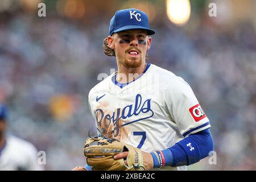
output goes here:
<path id="1" fill-rule="evenodd" d="M 118 10 L 110 20 L 109 35 L 115 32 L 133 29 L 143 29 L 147 35 L 155 34 L 155 31 L 148 27 L 147 14 L 137 9 Z"/>

